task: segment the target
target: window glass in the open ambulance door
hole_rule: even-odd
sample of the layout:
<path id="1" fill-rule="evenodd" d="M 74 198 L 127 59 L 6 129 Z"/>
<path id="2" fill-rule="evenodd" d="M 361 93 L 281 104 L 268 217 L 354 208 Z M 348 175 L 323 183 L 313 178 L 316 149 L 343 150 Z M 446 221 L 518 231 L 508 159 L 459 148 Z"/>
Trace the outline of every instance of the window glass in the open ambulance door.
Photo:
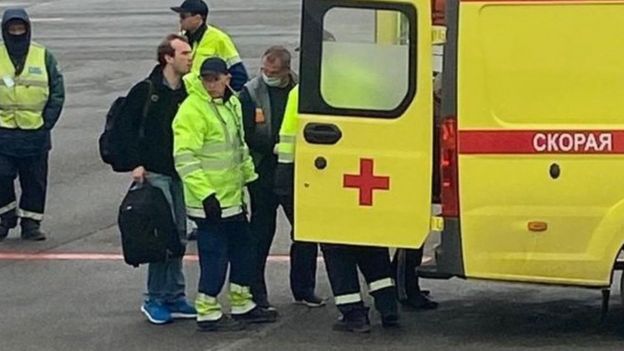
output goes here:
<path id="1" fill-rule="evenodd" d="M 398 11 L 330 9 L 323 20 L 323 100 L 339 109 L 396 110 L 410 89 L 406 33 L 409 22 Z"/>

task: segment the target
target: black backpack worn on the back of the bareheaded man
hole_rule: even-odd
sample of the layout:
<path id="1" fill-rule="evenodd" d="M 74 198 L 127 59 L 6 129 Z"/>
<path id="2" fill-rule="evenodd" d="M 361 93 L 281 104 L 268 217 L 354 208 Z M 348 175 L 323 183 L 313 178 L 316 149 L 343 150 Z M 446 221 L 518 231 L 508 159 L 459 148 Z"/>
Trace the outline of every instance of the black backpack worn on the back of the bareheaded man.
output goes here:
<path id="1" fill-rule="evenodd" d="M 142 83 L 147 84 L 149 90 L 143 105 L 139 135 L 142 135 L 144 120 L 147 117 L 151 101 L 154 100 L 152 96 L 154 94 L 152 81 L 146 79 L 140 84 Z M 130 116 L 126 116 L 127 102 L 127 96 L 120 96 L 115 99 L 106 113 L 104 131 L 98 140 L 100 158 L 102 158 L 104 163 L 109 164 L 115 172 L 132 171 L 132 165 L 127 158 L 127 150 L 128 143 L 133 142 L 137 136 L 132 135 L 132 120 L 128 118 Z"/>

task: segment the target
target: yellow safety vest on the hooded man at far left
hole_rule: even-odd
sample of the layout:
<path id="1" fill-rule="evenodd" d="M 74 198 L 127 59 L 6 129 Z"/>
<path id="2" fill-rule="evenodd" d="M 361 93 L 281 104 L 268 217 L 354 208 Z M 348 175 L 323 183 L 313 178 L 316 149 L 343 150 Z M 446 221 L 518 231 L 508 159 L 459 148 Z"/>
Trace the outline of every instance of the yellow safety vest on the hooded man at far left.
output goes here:
<path id="1" fill-rule="evenodd" d="M 49 96 L 45 48 L 31 43 L 24 70 L 16 76 L 6 46 L 0 45 L 0 127 L 41 128 Z"/>

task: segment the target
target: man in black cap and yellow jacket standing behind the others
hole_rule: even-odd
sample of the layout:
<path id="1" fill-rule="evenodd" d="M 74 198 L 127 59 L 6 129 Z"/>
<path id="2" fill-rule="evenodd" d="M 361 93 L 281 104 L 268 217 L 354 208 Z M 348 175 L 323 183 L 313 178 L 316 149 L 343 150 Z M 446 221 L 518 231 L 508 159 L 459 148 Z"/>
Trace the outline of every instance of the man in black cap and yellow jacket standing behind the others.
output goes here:
<path id="1" fill-rule="evenodd" d="M 219 57 L 227 63 L 232 76 L 230 86 L 240 91 L 249 80 L 247 70 L 230 36 L 207 24 L 208 5 L 203 0 L 185 0 L 171 10 L 180 15 L 180 27 L 193 47 L 192 72 L 199 73 L 205 59 Z"/>

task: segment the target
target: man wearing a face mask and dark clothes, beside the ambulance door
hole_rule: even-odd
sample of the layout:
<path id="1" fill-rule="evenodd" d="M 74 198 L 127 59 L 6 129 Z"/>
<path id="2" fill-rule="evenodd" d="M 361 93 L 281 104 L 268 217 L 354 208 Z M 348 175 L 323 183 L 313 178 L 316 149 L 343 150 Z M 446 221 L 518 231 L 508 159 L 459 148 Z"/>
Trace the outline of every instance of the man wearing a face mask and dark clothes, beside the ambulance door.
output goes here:
<path id="1" fill-rule="evenodd" d="M 297 84 L 290 69 L 291 55 L 284 47 L 273 46 L 262 56 L 262 74 L 245 85 L 240 99 L 243 104 L 245 138 L 260 176 L 249 186 L 251 197 L 251 231 L 257 263 L 251 289 L 258 306 L 272 309 L 268 301 L 265 267 L 275 236 L 277 208 L 281 205 L 292 224 L 292 196 L 278 196 L 274 189 L 277 155 L 275 144 L 288 94 Z M 293 242 L 290 249 L 290 286 L 295 301 L 309 307 L 320 307 L 324 300 L 315 295 L 318 245 Z"/>

